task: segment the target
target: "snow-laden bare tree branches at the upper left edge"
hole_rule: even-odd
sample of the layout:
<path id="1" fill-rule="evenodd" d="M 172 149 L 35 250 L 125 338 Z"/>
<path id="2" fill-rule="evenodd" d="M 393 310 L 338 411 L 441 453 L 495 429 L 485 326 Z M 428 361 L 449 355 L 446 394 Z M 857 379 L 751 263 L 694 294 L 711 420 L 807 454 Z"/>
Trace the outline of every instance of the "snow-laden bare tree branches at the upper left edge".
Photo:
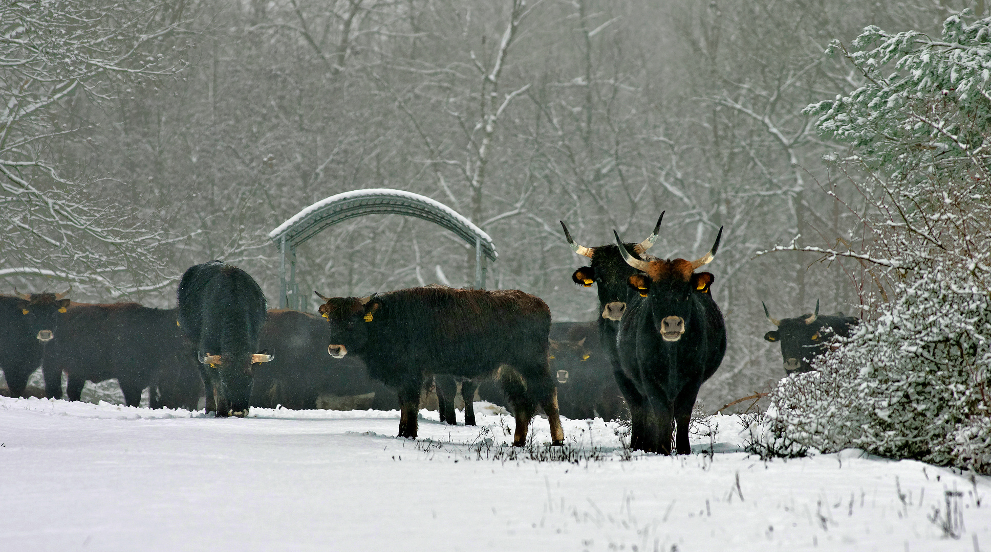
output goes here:
<path id="1" fill-rule="evenodd" d="M 165 232 L 97 200 L 60 155 L 84 123 L 61 104 L 100 101 L 174 73 L 160 51 L 181 14 L 163 1 L 14 1 L 0 10 L 0 278 L 48 276 L 114 295 L 170 283 Z M 92 145 L 92 144 L 90 144 Z"/>

